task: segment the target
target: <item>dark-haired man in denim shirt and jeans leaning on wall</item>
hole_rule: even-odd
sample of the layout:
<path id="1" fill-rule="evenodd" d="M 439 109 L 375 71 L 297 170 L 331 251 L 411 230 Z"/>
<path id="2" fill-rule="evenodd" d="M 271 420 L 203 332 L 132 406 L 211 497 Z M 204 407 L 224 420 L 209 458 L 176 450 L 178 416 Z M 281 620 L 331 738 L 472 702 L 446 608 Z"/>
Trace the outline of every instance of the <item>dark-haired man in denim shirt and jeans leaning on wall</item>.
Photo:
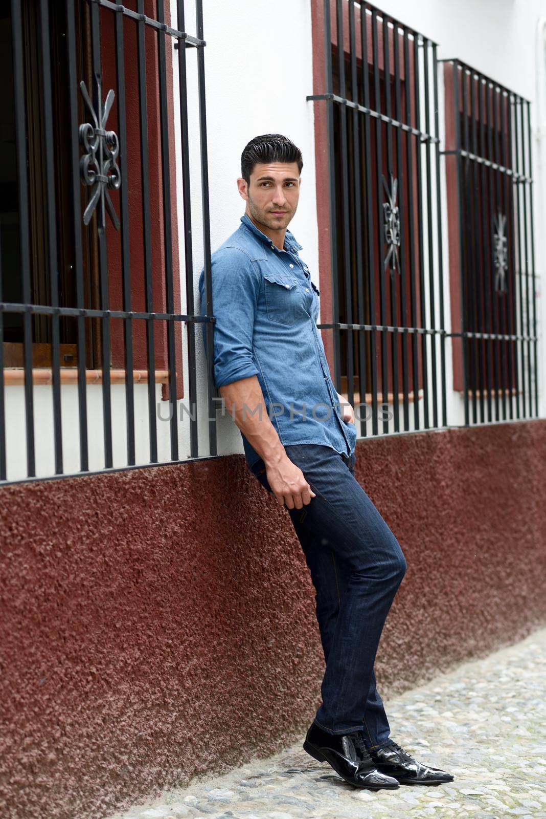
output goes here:
<path id="1" fill-rule="evenodd" d="M 280 134 L 244 148 L 242 224 L 212 260 L 214 378 L 248 468 L 289 511 L 316 588 L 326 670 L 304 749 L 356 787 L 437 785 L 453 776 L 390 738 L 375 685 L 379 638 L 406 562 L 354 477 L 354 412 L 333 386 L 316 327 L 319 290 L 287 230 L 302 165 Z M 203 272 L 199 293 L 203 309 Z"/>

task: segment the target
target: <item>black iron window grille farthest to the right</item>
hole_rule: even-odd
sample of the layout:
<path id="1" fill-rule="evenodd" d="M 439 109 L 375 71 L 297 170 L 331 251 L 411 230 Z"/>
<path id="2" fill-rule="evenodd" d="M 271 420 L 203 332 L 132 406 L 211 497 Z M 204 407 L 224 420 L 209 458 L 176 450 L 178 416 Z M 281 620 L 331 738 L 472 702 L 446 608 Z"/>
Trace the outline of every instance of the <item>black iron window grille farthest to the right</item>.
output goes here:
<path id="1" fill-rule="evenodd" d="M 452 72 L 465 424 L 538 416 L 530 102 Z M 446 76 L 446 81 L 449 79 Z"/>

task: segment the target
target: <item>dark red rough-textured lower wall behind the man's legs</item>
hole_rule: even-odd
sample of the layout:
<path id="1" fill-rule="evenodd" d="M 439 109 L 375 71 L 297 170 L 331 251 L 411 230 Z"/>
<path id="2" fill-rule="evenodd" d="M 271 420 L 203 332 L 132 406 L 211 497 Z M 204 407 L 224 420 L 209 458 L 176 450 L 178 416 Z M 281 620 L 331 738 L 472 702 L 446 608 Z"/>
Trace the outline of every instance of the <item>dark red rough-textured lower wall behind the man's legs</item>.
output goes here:
<path id="1" fill-rule="evenodd" d="M 408 562 L 383 695 L 546 622 L 545 453 L 544 420 L 359 443 Z M 302 737 L 314 590 L 242 456 L 8 486 L 0 504 L 2 819 L 104 817 Z"/>

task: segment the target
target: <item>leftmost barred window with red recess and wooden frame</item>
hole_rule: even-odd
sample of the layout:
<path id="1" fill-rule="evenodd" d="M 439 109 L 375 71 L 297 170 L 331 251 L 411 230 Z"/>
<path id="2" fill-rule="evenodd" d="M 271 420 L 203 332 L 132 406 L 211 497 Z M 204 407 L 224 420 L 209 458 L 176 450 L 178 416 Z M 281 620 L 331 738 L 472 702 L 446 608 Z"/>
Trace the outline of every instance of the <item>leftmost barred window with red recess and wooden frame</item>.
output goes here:
<path id="1" fill-rule="evenodd" d="M 200 0 L 195 8 L 202 31 Z M 195 403 L 193 322 L 209 320 L 193 315 L 192 280 L 186 287 L 190 315 L 181 316 L 172 59 L 180 104 L 184 256 L 191 270 L 186 52 L 199 54 L 201 160 L 195 173 L 202 182 L 208 257 L 204 40 L 183 30 L 183 0 L 124 5 L 21 0 L 3 3 L 2 9 L 0 480 L 7 477 L 4 387 L 10 384 L 25 388 L 29 477 L 36 474 L 35 427 L 43 432 L 33 384 L 44 382 L 51 384 L 53 419 L 46 434 L 54 437 L 55 473 L 63 473 L 60 387 L 70 383 L 78 385 L 77 416 L 69 423 L 78 426 L 83 472 L 90 463 L 88 428 L 95 422 L 87 412 L 89 382 L 101 383 L 105 468 L 112 468 L 118 444 L 114 409 L 122 409 L 118 421 L 120 415 L 126 419 L 127 464 L 136 463 L 135 431 L 142 418 L 136 419 L 133 382 L 147 382 L 145 421 L 149 461 L 155 463 L 156 383 L 163 385 L 165 399 L 183 396 L 185 320 L 188 397 Z M 112 403 L 110 387 L 116 382 L 125 385 L 123 408 Z M 195 417 L 192 456 L 197 455 Z M 176 412 L 168 434 L 170 459 L 176 461 Z"/>

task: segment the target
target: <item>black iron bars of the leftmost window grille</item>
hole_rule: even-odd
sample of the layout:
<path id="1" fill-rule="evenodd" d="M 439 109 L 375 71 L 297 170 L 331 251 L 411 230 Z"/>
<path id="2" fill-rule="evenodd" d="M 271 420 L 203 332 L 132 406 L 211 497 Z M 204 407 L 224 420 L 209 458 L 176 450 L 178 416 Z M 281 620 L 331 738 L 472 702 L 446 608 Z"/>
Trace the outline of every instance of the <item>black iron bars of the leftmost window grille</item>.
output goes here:
<path id="1" fill-rule="evenodd" d="M 87 114 L 92 122 L 78 122 L 78 66 L 76 64 L 76 18 L 74 0 L 66 0 L 66 57 L 68 65 L 67 94 L 69 102 L 70 120 L 70 155 L 69 162 L 72 168 L 71 196 L 73 203 L 73 238 L 74 238 L 74 278 L 76 288 L 76 305 L 69 307 L 60 305 L 60 295 L 57 285 L 57 276 L 50 276 L 50 304 L 32 303 L 32 286 L 29 258 L 29 193 L 28 167 L 26 157 L 25 136 L 25 61 L 24 61 L 24 27 L 20 0 L 11 2 L 11 26 L 13 39 L 13 71 L 14 97 L 16 112 L 16 156 L 17 156 L 17 186 L 20 218 L 20 270 L 21 294 L 20 303 L 2 301 L 2 277 L 0 275 L 0 336 L 2 335 L 3 317 L 7 313 L 22 314 L 23 316 L 23 357 L 24 357 L 24 393 L 25 393 L 25 428 L 26 428 L 26 466 L 28 478 L 36 475 L 35 460 L 35 428 L 34 428 L 34 398 L 33 398 L 33 333 L 31 319 L 33 315 L 51 316 L 51 385 L 53 402 L 53 434 L 55 451 L 55 475 L 63 474 L 63 448 L 61 440 L 62 422 L 60 406 L 60 319 L 65 316 L 75 317 L 78 326 L 78 432 L 79 432 L 79 460 L 80 472 L 85 474 L 108 471 L 113 468 L 112 451 L 112 419 L 110 396 L 110 321 L 123 319 L 124 365 L 125 365 L 125 404 L 127 416 L 127 468 L 135 468 L 135 410 L 133 394 L 133 353 L 132 338 L 135 319 L 145 321 L 146 328 L 146 357 L 148 366 L 148 410 L 149 410 L 149 440 L 150 464 L 158 464 L 157 428 L 155 411 L 155 383 L 154 383 L 154 324 L 158 320 L 167 323 L 167 357 L 168 357 L 168 387 L 170 400 L 176 400 L 177 372 L 175 358 L 175 322 L 186 323 L 187 328 L 187 355 L 188 355 L 188 383 L 187 394 L 190 407 L 196 406 L 196 367 L 195 367 L 195 324 L 207 323 L 208 348 L 213 346 L 213 310 L 211 290 L 210 266 L 210 239 L 208 215 L 208 156 L 206 140 L 206 110 L 205 110 L 205 81 L 204 81 L 204 46 L 203 38 L 203 8 L 202 0 L 195 0 L 197 37 L 192 37 L 185 31 L 184 0 L 177 0 L 176 15 L 177 29 L 165 23 L 164 2 L 157 2 L 157 19 L 151 19 L 144 14 L 144 0 L 137 0 L 137 11 L 123 7 L 119 3 L 109 0 L 81 0 L 81 7 L 88 7 L 91 21 L 90 46 L 92 53 L 92 75 L 94 87 L 87 91 L 82 82 L 79 91 L 83 94 Z M 116 88 L 109 89 L 104 94 L 101 88 L 101 7 L 110 10 L 114 15 L 114 49 L 116 66 Z M 50 20 L 49 0 L 39 0 L 39 27 L 41 51 L 41 78 L 42 78 L 42 117 L 46 145 L 46 187 L 47 187 L 47 246 L 49 269 L 58 269 L 57 256 L 57 218 L 54 168 L 54 124 L 52 106 L 51 82 L 51 43 L 49 36 Z M 127 127 L 125 100 L 125 52 L 123 19 L 133 20 L 137 27 L 137 82 L 140 108 L 140 148 L 141 148 L 141 196 L 143 245 L 145 256 L 145 310 L 132 310 L 132 280 L 129 254 L 129 206 L 128 206 L 128 178 L 127 165 L 124 157 L 127 156 Z M 146 61 L 145 61 L 145 32 L 154 30 L 156 33 L 157 54 L 159 58 L 159 125 L 161 138 L 162 159 L 162 192 L 163 192 L 163 235 L 165 258 L 165 292 L 166 310 L 154 310 L 152 296 L 151 270 L 151 225 L 150 225 L 150 177 L 148 167 L 148 133 L 147 133 L 147 101 L 146 101 Z M 171 233 L 171 197 L 170 197 L 170 168 L 168 146 L 168 97 L 166 85 L 166 42 L 168 38 L 176 45 L 184 44 L 184 48 L 177 48 L 181 143 L 182 190 L 181 202 L 184 211 L 184 256 L 186 266 L 186 303 L 194 305 L 194 288 L 191 271 L 193 270 L 192 249 L 192 221 L 190 208 L 190 165 L 187 151 L 188 145 L 188 91 L 186 79 L 186 49 L 195 48 L 197 52 L 197 80 L 199 95 L 199 135 L 200 135 L 200 182 L 202 190 L 202 221 L 204 235 L 204 269 L 206 314 L 176 314 L 174 312 L 173 280 L 172 280 L 172 233 Z M 106 130 L 105 125 L 114 102 L 118 101 L 118 133 Z M 80 156 L 80 144 L 83 146 L 83 156 Z M 80 173 L 81 171 L 81 179 Z M 83 281 L 83 227 L 80 217 L 80 197 L 82 185 L 90 186 L 92 195 L 83 215 L 83 224 L 93 224 L 92 215 L 96 210 L 96 232 L 98 239 L 98 266 L 101 290 L 101 309 L 90 309 L 84 304 Z M 119 190 L 120 216 L 115 213 L 110 200 L 109 190 Z M 121 279 L 123 287 L 123 310 L 109 309 L 109 282 L 108 258 L 105 235 L 105 213 L 121 234 L 122 269 Z M 0 271 L 1 274 L 1 271 Z M 101 324 L 101 376 L 102 376 L 102 409 L 104 429 L 105 468 L 89 469 L 89 441 L 87 440 L 87 393 L 86 393 L 86 364 L 85 356 L 85 319 L 100 319 Z M 4 360 L 2 344 L 0 344 L 0 481 L 7 480 L 6 458 L 6 414 L 4 404 Z M 213 362 L 208 363 L 208 436 L 211 457 L 217 454 L 216 421 L 214 413 L 215 388 L 213 382 Z M 190 413 L 190 458 L 198 459 L 198 428 L 197 413 Z M 170 420 L 171 460 L 167 463 L 181 463 L 178 453 L 177 412 L 172 411 Z M 184 462 L 187 459 L 184 459 Z M 164 463 L 164 462 L 163 462 Z M 54 476 L 51 476 L 54 477 Z"/>

